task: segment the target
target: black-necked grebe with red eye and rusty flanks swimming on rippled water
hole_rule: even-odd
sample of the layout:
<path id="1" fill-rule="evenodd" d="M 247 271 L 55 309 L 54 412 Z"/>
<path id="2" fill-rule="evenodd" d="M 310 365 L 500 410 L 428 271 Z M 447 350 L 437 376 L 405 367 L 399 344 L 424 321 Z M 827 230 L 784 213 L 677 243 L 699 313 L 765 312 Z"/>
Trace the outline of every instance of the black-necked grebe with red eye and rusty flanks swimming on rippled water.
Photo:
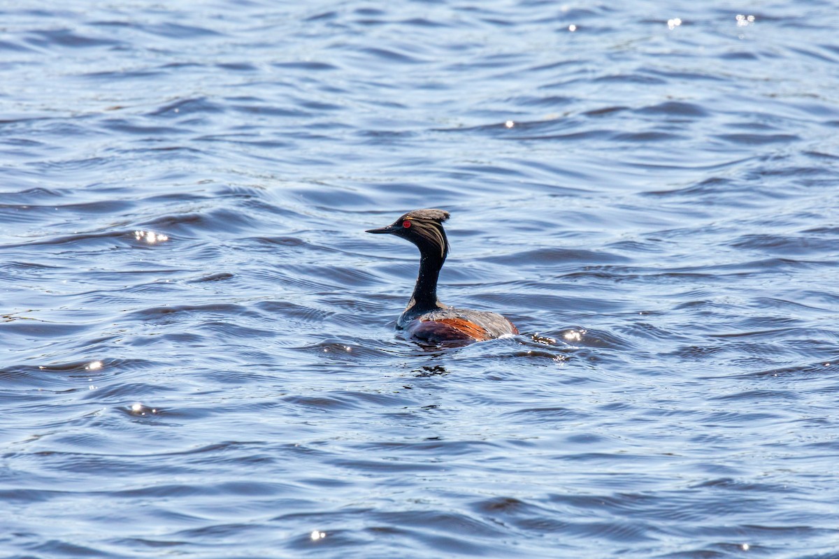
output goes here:
<path id="1" fill-rule="evenodd" d="M 454 308 L 437 298 L 437 278 L 449 254 L 449 240 L 443 221 L 449 219 L 445 210 L 413 210 L 387 227 L 367 233 L 388 234 L 407 239 L 420 249 L 420 274 L 414 294 L 404 313 L 396 321 L 411 338 L 431 344 L 471 344 L 475 341 L 519 334 L 507 318 L 498 313 Z"/>

